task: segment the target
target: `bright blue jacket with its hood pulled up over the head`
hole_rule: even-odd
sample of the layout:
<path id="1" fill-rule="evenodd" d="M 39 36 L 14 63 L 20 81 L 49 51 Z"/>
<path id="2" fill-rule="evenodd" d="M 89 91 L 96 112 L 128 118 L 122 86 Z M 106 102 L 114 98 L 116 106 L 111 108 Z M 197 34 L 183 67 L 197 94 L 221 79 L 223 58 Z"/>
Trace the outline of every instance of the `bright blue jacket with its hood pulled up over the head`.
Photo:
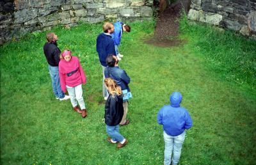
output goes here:
<path id="1" fill-rule="evenodd" d="M 180 107 L 181 101 L 181 93 L 173 92 L 171 105 L 163 106 L 157 113 L 157 123 L 163 125 L 164 132 L 169 136 L 178 136 L 192 127 L 191 116 L 184 107 Z"/>

